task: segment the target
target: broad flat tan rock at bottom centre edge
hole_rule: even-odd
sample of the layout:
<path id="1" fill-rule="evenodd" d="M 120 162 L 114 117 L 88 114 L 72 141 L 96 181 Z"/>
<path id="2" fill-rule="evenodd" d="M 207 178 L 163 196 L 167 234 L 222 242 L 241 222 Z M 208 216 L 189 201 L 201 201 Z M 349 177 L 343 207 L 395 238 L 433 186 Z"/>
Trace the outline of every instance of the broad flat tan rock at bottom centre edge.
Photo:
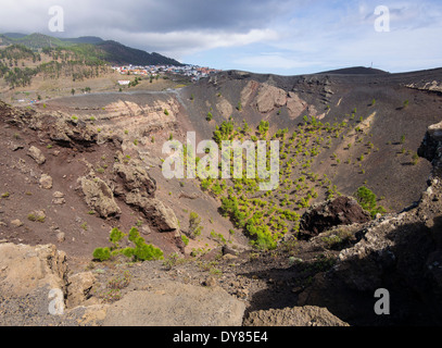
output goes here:
<path id="1" fill-rule="evenodd" d="M 240 326 L 244 310 L 220 287 L 157 281 L 109 307 L 103 326 Z"/>

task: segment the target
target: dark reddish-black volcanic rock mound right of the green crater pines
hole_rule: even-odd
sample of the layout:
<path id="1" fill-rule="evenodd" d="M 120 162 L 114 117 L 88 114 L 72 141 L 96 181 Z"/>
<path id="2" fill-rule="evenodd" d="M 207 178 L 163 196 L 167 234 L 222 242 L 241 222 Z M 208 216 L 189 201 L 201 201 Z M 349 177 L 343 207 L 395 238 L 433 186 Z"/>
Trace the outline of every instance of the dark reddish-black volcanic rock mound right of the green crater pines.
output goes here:
<path id="1" fill-rule="evenodd" d="M 370 215 L 353 198 L 341 196 L 313 206 L 301 219 L 299 238 L 310 239 L 333 226 L 370 221 Z"/>

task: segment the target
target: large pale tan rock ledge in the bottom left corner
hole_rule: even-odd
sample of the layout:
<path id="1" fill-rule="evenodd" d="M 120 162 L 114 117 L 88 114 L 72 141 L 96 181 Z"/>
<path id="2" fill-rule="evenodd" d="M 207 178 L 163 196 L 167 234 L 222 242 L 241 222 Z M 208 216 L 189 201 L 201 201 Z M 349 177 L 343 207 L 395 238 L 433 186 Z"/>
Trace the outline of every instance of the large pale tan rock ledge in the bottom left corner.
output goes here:
<path id="1" fill-rule="evenodd" d="M 94 276 L 68 276 L 67 257 L 53 245 L 0 244 L 0 325 L 97 325 L 106 306 L 85 300 Z"/>

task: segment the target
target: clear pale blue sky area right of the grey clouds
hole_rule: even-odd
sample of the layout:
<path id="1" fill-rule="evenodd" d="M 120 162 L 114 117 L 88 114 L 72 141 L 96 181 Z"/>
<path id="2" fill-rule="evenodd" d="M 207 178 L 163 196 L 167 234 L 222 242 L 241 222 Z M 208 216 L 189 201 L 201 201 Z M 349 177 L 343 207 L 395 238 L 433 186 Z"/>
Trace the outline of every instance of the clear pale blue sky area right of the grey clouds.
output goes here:
<path id="1" fill-rule="evenodd" d="M 365 1 L 316 1 L 281 14 L 262 39 L 213 48 L 185 57 L 220 69 L 282 75 L 345 66 L 404 72 L 442 66 L 440 2 L 389 3 L 390 32 L 375 29 L 377 4 Z"/>

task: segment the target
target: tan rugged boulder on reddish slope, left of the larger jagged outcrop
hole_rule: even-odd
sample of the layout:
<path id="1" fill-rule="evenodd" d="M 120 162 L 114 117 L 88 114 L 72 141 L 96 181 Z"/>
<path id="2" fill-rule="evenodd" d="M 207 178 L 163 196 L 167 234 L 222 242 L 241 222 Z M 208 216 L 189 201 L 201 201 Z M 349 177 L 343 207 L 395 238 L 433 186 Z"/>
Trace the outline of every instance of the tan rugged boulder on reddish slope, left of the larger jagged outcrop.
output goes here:
<path id="1" fill-rule="evenodd" d="M 111 188 L 101 178 L 93 175 L 78 178 L 85 201 L 101 217 L 117 216 L 121 213 Z"/>

